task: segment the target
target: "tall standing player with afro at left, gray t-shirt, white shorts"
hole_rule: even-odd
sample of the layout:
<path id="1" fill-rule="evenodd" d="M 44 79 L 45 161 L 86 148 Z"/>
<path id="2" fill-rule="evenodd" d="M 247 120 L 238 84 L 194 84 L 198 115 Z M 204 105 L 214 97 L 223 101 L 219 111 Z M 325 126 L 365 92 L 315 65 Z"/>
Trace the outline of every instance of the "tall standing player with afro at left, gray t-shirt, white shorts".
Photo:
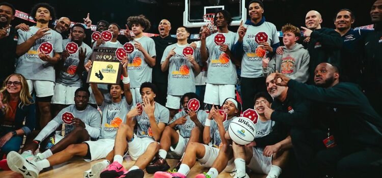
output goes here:
<path id="1" fill-rule="evenodd" d="M 62 37 L 48 27 L 49 21 L 54 20 L 56 12 L 46 3 L 40 3 L 32 8 L 31 16 L 37 21 L 28 32 L 18 29 L 16 55 L 18 56 L 16 73 L 25 76 L 29 91 L 36 93 L 36 102 L 41 113 L 40 125 L 43 128 L 51 120 L 50 101 L 55 81 L 54 64 L 60 60 Z M 43 53 L 39 46 L 49 42 L 53 50 Z"/>

